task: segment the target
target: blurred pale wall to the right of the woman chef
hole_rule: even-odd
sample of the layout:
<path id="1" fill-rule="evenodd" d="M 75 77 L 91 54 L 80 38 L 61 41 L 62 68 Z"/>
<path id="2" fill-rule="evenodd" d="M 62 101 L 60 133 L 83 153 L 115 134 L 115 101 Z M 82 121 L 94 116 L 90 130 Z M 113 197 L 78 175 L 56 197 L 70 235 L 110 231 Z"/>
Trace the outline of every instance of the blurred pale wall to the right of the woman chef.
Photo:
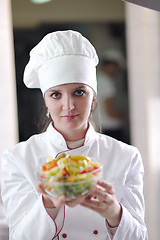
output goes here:
<path id="1" fill-rule="evenodd" d="M 126 4 L 126 31 L 132 144 L 145 166 L 146 223 L 159 240 L 160 15 Z"/>

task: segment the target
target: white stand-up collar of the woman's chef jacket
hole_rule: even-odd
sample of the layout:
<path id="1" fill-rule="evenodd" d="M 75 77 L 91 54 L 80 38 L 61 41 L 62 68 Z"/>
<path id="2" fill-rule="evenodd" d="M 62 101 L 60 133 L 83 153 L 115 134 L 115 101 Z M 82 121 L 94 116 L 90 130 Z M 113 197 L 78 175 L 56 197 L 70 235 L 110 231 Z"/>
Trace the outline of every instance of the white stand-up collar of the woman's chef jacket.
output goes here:
<path id="1" fill-rule="evenodd" d="M 67 146 L 67 141 L 63 137 L 63 135 L 54 128 L 52 123 L 49 124 L 47 131 L 46 131 L 47 137 L 49 139 L 49 142 L 51 145 L 54 145 L 54 147 L 57 147 L 60 151 L 68 150 L 69 147 Z M 88 130 L 85 135 L 84 144 L 88 143 L 89 141 L 93 140 L 93 138 L 97 137 L 96 132 L 92 126 L 92 124 L 89 123 Z"/>

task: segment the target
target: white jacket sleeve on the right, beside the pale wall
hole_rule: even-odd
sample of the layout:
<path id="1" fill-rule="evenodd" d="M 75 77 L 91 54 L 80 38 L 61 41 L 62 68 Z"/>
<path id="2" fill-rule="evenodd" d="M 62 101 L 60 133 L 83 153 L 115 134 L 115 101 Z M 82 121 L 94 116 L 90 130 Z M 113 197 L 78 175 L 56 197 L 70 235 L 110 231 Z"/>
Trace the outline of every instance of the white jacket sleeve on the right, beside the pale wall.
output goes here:
<path id="1" fill-rule="evenodd" d="M 144 223 L 143 175 L 142 159 L 138 150 L 136 150 L 126 176 L 120 201 L 122 206 L 121 221 L 111 239 L 148 239 L 147 228 Z"/>

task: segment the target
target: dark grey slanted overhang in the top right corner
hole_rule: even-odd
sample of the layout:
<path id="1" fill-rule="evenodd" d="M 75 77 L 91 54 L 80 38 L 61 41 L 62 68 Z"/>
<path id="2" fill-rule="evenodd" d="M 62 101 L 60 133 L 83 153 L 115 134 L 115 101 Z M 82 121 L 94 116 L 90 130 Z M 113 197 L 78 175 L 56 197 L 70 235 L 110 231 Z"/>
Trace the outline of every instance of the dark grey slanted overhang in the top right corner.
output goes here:
<path id="1" fill-rule="evenodd" d="M 160 0 L 123 0 L 123 1 L 138 4 L 142 7 L 160 11 Z"/>

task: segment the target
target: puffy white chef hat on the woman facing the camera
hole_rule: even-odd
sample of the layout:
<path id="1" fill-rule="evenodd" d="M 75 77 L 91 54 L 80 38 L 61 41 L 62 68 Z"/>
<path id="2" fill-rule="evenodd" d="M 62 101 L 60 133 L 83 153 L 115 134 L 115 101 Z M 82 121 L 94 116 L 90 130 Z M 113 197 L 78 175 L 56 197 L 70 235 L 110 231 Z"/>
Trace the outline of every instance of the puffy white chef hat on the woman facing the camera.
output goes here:
<path id="1" fill-rule="evenodd" d="M 65 83 L 84 83 L 97 92 L 98 56 L 92 44 L 79 32 L 47 34 L 30 52 L 24 83 L 42 93 Z"/>

